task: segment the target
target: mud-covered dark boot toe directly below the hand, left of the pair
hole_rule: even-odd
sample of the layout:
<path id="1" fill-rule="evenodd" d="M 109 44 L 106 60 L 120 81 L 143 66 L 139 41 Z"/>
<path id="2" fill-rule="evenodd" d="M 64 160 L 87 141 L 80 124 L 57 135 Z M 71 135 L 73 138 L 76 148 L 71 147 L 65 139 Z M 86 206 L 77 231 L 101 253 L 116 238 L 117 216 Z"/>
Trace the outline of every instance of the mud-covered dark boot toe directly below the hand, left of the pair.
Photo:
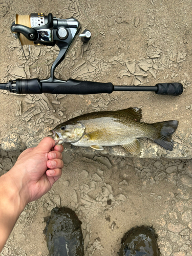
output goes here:
<path id="1" fill-rule="evenodd" d="M 49 256 L 84 255 L 81 222 L 73 210 L 55 207 L 51 216 L 44 219 Z"/>

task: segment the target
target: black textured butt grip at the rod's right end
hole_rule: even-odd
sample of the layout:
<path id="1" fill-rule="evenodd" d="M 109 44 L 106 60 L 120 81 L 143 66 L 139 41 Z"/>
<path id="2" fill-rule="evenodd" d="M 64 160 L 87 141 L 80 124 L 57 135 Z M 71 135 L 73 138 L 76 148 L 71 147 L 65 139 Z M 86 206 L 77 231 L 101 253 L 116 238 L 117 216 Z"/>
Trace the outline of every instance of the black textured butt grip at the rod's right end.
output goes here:
<path id="1" fill-rule="evenodd" d="M 156 94 L 178 96 L 183 92 L 183 84 L 180 82 L 157 83 L 155 86 L 157 87 Z"/>

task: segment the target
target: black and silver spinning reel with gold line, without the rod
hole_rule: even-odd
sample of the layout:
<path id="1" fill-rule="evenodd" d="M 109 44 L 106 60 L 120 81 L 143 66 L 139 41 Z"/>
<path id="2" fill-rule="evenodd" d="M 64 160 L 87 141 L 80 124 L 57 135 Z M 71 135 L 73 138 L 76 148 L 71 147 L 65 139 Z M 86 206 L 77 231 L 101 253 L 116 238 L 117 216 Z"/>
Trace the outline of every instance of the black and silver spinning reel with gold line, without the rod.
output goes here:
<path id="1" fill-rule="evenodd" d="M 44 13 L 31 13 L 30 15 L 16 14 L 15 22 L 11 26 L 13 35 L 19 40 L 20 46 L 54 46 L 59 48 L 59 54 L 51 67 L 49 81 L 56 81 L 55 68 L 65 58 L 67 52 L 73 47 L 73 43 L 81 30 L 80 23 L 75 18 L 60 19 L 47 16 Z M 91 32 L 84 30 L 79 35 L 83 42 L 91 39 Z M 29 48 L 30 52 L 30 48 Z M 24 56 L 25 52 L 23 50 Z"/>

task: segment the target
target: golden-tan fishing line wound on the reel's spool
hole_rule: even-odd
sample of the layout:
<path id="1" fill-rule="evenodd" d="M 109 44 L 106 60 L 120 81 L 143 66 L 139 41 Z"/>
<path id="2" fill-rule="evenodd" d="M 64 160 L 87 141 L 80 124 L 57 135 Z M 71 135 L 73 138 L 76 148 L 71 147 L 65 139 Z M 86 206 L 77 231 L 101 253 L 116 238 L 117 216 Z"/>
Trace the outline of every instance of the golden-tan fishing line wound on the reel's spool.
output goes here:
<path id="1" fill-rule="evenodd" d="M 18 15 L 15 17 L 15 24 L 24 25 L 31 28 L 30 15 Z M 33 41 L 28 40 L 22 33 L 19 35 L 20 43 L 24 45 L 34 45 Z"/>

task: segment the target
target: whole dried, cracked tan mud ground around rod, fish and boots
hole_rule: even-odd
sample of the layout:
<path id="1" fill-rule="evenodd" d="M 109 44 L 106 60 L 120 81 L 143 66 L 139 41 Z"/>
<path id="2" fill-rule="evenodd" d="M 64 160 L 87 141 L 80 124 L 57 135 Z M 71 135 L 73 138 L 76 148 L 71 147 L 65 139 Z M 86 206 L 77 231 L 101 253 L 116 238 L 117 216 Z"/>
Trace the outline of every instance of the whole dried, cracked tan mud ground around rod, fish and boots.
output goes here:
<path id="1" fill-rule="evenodd" d="M 25 148 L 48 135 L 60 121 L 92 111 L 137 106 L 142 108 L 145 122 L 179 120 L 176 147 L 182 150 L 185 146 L 190 158 L 191 1 L 4 0 L 0 3 L 0 82 L 49 76 L 58 49 L 32 47 L 26 60 L 10 32 L 16 13 L 39 11 L 59 18 L 75 17 L 83 30 L 92 33 L 87 45 L 78 39 L 59 65 L 56 75 L 60 79 L 136 86 L 182 82 L 184 92 L 166 97 L 153 92 L 19 96 L 3 91 L 0 142 L 14 135 Z M 149 147 L 151 143 L 148 141 Z M 17 156 L 17 151 L 1 151 L 1 174 Z M 86 255 L 117 255 L 123 233 L 143 224 L 155 227 L 162 255 L 192 255 L 190 159 L 103 154 L 93 160 L 91 155 L 69 152 L 63 156 L 66 165 L 61 179 L 50 193 L 26 207 L 2 255 L 48 255 L 43 217 L 56 205 L 71 207 L 83 222 Z"/>

